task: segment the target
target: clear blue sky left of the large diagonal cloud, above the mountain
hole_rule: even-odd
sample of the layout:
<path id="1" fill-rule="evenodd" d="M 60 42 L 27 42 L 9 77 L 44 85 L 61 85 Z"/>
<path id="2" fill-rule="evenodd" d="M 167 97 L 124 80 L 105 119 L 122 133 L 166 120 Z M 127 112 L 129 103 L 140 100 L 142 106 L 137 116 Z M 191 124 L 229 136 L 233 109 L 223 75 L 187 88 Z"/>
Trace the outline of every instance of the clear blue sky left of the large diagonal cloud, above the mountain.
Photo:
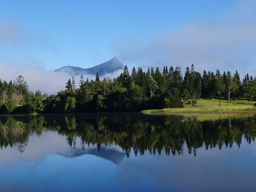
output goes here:
<path id="1" fill-rule="evenodd" d="M 83 68 L 120 53 L 116 44 L 136 40 L 145 47 L 154 36 L 193 22 L 215 23 L 237 1 L 1 1 L 1 22 L 10 25 L 17 42 L 2 41 L 2 62 L 39 65 L 49 70 L 64 65 Z M 5 25 L 1 25 L 1 29 Z M 16 37 L 15 37 L 16 36 Z M 156 65 L 140 59 L 121 62 Z M 164 61 L 163 61 L 164 62 Z M 195 62 L 195 61 L 191 61 Z M 187 65 L 190 65 L 188 63 Z M 196 62 L 195 62 L 196 63 Z M 175 64 L 173 64 L 175 65 Z"/>

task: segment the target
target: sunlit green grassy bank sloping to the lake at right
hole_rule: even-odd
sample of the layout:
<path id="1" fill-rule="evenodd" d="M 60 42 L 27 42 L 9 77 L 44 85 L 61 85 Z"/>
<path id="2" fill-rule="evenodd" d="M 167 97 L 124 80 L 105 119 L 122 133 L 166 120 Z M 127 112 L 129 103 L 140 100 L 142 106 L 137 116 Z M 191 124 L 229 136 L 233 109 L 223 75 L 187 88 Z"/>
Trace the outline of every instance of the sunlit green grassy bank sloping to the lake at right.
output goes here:
<path id="1" fill-rule="evenodd" d="M 217 99 L 199 99 L 197 101 L 197 108 L 191 105 L 185 105 L 185 108 L 166 108 L 166 109 L 152 109 L 144 110 L 143 113 L 217 113 L 217 114 L 231 114 L 231 113 L 255 113 L 256 108 L 253 106 L 254 102 L 244 100 L 230 101 L 221 100 L 220 107 Z"/>

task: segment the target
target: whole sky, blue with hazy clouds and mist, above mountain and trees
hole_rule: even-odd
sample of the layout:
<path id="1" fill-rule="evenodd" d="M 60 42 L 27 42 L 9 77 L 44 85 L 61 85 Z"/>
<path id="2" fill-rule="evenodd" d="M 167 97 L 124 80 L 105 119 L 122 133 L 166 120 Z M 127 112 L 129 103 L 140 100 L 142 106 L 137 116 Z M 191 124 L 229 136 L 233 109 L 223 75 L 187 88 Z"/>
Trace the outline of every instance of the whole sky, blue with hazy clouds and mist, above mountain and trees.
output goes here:
<path id="1" fill-rule="evenodd" d="M 88 68 L 113 57 L 130 69 L 172 65 L 184 74 L 194 63 L 200 73 L 256 76 L 255 10 L 255 0 L 0 0 L 0 79 L 21 74 L 30 90 L 52 94 L 71 78 L 53 70 Z"/>

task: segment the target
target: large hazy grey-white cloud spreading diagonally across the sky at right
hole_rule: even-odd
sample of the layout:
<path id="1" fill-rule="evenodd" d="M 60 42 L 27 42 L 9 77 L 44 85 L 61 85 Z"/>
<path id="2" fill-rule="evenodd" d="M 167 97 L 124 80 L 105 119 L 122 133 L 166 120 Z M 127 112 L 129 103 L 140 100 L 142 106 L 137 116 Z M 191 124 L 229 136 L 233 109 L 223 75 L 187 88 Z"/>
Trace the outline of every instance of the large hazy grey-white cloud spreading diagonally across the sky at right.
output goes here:
<path id="1" fill-rule="evenodd" d="M 197 71 L 239 70 L 256 75 L 255 1 L 239 1 L 217 17 L 157 34 L 150 43 L 123 40 L 114 45 L 123 63 L 170 67 L 194 63 Z M 123 43 L 123 42 L 126 43 Z"/>

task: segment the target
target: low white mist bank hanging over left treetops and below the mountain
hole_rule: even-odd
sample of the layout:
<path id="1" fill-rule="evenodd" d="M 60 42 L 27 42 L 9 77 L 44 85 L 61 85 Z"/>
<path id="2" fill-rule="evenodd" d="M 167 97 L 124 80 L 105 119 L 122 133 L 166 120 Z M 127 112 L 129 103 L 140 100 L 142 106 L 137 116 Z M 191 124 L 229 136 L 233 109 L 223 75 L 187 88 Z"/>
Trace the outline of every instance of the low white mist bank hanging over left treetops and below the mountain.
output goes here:
<path id="1" fill-rule="evenodd" d="M 104 79 L 104 77 L 110 77 L 111 79 L 116 78 L 120 75 L 123 70 L 117 70 L 113 73 L 107 73 L 103 76 L 100 76 L 100 79 Z M 40 90 L 43 94 L 47 93 L 56 94 L 57 92 L 64 90 L 66 82 L 68 79 L 72 78 L 66 72 L 55 72 L 55 71 L 47 71 L 44 68 L 40 68 L 32 65 L 2 65 L 0 66 L 0 79 L 5 81 L 13 81 L 16 78 L 22 75 L 27 81 L 29 90 L 35 92 L 36 90 Z M 88 77 L 89 81 L 91 79 L 95 80 L 95 75 L 92 74 L 83 74 L 84 80 Z M 80 75 L 74 76 L 76 87 L 79 87 Z"/>

